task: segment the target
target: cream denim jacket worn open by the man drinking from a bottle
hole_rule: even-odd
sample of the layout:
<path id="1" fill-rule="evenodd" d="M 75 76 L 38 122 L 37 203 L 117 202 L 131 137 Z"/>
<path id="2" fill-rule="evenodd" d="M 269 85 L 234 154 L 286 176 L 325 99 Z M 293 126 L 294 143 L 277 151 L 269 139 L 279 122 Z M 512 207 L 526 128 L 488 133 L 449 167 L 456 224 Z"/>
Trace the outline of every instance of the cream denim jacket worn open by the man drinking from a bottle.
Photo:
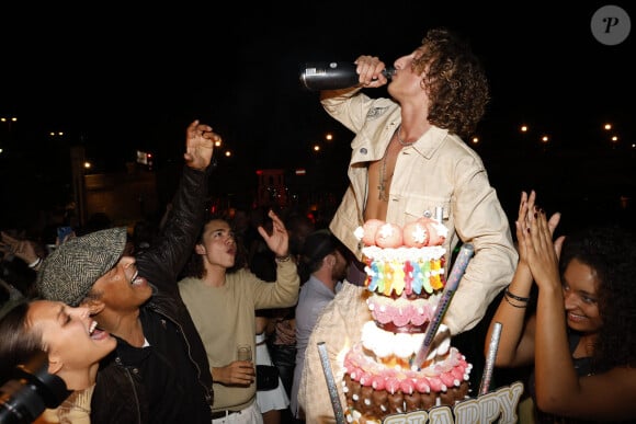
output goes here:
<path id="1" fill-rule="evenodd" d="M 342 91 L 322 105 L 355 134 L 350 185 L 330 229 L 361 259 L 362 245 L 354 231 L 364 224 L 367 163 L 384 156 L 400 124 L 400 107 L 390 99 L 371 99 L 357 90 Z M 453 334 L 474 328 L 512 279 L 518 260 L 508 217 L 479 156 L 456 135 L 431 127 L 398 154 L 388 203 L 386 221 L 400 227 L 422 216 L 435 217 L 435 208 L 443 207 L 447 265 L 459 241 L 474 245 L 475 255 L 444 320 Z M 445 272 L 447 276 L 450 266 Z"/>

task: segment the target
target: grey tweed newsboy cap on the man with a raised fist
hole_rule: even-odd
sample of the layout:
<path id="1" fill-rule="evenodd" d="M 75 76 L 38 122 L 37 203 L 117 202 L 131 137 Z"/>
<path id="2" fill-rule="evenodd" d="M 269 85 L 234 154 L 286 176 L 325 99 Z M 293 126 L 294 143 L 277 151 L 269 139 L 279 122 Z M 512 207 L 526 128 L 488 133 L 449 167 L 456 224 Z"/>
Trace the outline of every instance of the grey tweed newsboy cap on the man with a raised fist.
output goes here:
<path id="1" fill-rule="evenodd" d="M 37 272 L 39 296 L 77 307 L 98 278 L 115 266 L 125 247 L 125 227 L 93 231 L 64 242 Z"/>

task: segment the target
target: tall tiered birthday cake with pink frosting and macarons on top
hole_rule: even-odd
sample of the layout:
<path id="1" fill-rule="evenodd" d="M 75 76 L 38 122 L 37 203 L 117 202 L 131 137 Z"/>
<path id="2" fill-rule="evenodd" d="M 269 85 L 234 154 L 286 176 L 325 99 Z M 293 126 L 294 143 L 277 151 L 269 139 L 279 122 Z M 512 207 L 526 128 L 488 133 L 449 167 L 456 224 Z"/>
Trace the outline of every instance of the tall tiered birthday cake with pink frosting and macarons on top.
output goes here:
<path id="1" fill-rule="evenodd" d="M 451 346 L 443 324 L 429 354 L 417 358 L 445 285 L 447 229 L 433 218 L 404 229 L 371 219 L 355 236 L 364 243 L 373 321 L 344 357 L 348 422 L 381 423 L 466 399 L 472 365 Z"/>

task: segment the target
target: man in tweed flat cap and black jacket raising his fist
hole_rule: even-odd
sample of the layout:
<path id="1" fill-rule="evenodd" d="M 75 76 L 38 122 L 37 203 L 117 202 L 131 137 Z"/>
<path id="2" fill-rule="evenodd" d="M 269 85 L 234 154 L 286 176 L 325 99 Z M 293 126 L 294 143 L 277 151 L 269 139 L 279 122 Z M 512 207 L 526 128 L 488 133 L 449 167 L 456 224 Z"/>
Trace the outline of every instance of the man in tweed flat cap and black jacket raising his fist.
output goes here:
<path id="1" fill-rule="evenodd" d="M 117 339 L 100 364 L 93 423 L 211 423 L 212 374 L 177 279 L 203 225 L 218 139 L 198 121 L 188 127 L 172 210 L 149 249 L 128 256 L 126 228 L 105 229 L 66 241 L 39 268 L 42 297 L 88 307 Z"/>

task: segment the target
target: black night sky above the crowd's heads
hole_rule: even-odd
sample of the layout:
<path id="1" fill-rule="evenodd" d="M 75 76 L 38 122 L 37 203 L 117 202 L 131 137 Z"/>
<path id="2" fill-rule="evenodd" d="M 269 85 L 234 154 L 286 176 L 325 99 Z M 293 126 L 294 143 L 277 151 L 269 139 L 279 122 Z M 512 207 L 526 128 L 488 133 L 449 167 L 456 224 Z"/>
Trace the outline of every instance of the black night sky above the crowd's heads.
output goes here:
<path id="1" fill-rule="evenodd" d="M 283 167 L 327 130 L 347 146 L 351 138 L 300 88 L 305 61 L 371 54 L 393 62 L 443 25 L 469 39 L 488 73 L 485 149 L 510 149 L 522 121 L 570 146 L 606 119 L 636 139 L 636 28 L 617 46 L 597 42 L 590 21 L 606 2 L 438 3 L 4 8 L 0 115 L 20 117 L 30 149 L 46 142 L 44 130 L 61 129 L 109 161 L 136 148 L 180 158 L 185 126 L 201 118 L 237 160 Z M 631 2 L 610 4 L 636 19 Z"/>

